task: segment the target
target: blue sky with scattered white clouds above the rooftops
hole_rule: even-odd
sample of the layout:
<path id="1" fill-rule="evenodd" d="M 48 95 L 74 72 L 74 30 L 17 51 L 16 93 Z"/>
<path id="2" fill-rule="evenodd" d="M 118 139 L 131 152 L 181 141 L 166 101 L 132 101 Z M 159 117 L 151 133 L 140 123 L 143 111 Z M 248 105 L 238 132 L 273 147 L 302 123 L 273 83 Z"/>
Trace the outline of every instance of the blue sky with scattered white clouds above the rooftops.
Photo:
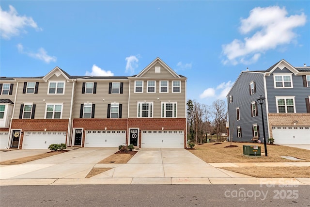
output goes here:
<path id="1" fill-rule="evenodd" d="M 0 76 L 131 76 L 156 57 L 187 98 L 224 99 L 242 70 L 310 65 L 310 1 L 0 1 Z"/>

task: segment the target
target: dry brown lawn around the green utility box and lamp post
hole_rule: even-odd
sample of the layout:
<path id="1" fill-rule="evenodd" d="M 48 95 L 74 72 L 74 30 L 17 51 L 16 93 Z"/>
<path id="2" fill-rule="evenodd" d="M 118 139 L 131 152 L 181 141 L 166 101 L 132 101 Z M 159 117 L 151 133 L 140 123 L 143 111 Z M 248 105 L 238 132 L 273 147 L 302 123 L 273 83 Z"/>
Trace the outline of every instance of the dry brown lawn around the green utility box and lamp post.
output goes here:
<path id="1" fill-rule="evenodd" d="M 196 145 L 196 150 L 190 150 L 200 159 L 209 163 L 216 162 L 300 162 L 300 161 L 310 161 L 310 151 L 307 149 L 299 149 L 289 146 L 281 146 L 275 144 L 267 145 L 268 157 L 262 155 L 261 157 L 246 157 L 243 155 L 243 145 L 257 145 L 261 146 L 261 152 L 264 153 L 263 143 L 232 143 L 236 147 L 230 146 L 229 142 L 224 142 L 221 144 L 214 143 L 204 143 L 201 145 Z M 303 160 L 291 160 L 284 159 L 280 156 L 292 156 L 294 158 Z"/>

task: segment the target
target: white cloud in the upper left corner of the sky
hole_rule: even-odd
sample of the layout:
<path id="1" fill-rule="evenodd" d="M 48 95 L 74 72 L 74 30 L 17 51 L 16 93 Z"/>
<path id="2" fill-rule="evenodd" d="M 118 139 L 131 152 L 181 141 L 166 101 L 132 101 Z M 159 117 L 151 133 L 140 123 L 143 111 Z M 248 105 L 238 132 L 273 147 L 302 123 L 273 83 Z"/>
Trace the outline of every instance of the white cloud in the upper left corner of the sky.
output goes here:
<path id="1" fill-rule="evenodd" d="M 0 25 L 1 37 L 5 39 L 17 36 L 20 32 L 27 33 L 24 30 L 25 27 L 42 31 L 32 17 L 18 15 L 16 9 L 11 5 L 9 5 L 9 11 L 3 11 L 0 7 Z"/>

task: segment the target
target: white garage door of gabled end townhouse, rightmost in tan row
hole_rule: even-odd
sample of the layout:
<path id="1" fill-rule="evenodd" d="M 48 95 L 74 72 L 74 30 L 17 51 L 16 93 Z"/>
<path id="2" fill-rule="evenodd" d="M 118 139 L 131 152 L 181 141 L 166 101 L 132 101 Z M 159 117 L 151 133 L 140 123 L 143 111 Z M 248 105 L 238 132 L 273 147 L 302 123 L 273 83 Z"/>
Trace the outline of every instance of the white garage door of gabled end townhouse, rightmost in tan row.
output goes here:
<path id="1" fill-rule="evenodd" d="M 184 131 L 142 131 L 141 147 L 184 148 Z"/>

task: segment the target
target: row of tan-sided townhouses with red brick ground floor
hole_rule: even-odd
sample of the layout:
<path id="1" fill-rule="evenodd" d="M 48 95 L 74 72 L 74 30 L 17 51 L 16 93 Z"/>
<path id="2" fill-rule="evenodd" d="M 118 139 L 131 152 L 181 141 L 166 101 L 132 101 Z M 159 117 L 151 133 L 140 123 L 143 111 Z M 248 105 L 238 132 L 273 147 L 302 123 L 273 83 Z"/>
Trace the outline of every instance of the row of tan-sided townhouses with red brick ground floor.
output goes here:
<path id="1" fill-rule="evenodd" d="M 156 58 L 138 75 L 0 77 L 0 148 L 186 147 L 186 77 Z"/>

